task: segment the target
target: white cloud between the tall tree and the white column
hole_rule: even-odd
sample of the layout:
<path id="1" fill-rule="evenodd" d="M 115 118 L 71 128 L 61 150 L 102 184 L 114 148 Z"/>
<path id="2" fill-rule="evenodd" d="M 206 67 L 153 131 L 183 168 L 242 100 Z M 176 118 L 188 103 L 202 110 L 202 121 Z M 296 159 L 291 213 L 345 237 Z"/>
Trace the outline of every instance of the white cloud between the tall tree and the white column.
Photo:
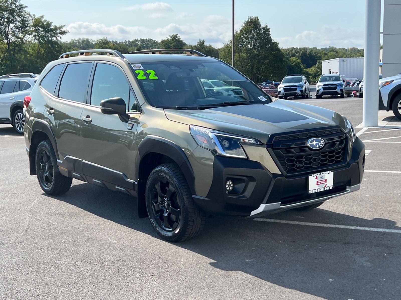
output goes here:
<path id="1" fill-rule="evenodd" d="M 287 47 L 358 47 L 364 46 L 363 30 L 344 30 L 323 26 L 317 31 L 304 31 L 295 37 L 273 38 L 282 48 Z"/>

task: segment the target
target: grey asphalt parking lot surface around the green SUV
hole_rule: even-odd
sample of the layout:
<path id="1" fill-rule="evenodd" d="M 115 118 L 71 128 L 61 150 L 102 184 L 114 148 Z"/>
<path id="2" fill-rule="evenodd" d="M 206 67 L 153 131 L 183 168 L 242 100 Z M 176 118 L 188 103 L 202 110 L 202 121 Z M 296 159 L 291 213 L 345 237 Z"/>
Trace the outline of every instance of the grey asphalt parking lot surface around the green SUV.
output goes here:
<path id="1" fill-rule="evenodd" d="M 296 101 L 362 122 L 362 98 Z M 173 244 L 125 194 L 78 180 L 44 194 L 24 138 L 0 125 L 0 299 L 400 299 L 401 130 L 359 137 L 360 190 L 308 212 L 209 218 Z"/>

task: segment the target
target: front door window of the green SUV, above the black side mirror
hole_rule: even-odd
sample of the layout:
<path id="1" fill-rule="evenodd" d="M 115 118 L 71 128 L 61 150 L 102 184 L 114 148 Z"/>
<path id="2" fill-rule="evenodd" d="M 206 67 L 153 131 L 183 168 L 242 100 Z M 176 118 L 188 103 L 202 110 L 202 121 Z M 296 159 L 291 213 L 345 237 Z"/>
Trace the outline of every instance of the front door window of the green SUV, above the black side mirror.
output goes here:
<path id="1" fill-rule="evenodd" d="M 124 99 L 128 108 L 129 93 L 130 86 L 119 68 L 111 64 L 96 65 L 91 93 L 92 105 L 99 106 L 101 100 L 119 97 Z"/>

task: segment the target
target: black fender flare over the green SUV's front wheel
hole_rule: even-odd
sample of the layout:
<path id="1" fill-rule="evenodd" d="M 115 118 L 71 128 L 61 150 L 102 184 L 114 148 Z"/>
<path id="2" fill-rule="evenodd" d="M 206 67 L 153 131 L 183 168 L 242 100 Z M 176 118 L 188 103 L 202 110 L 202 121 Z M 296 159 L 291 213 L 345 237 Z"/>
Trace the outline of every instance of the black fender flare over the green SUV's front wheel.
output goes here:
<path id="1" fill-rule="evenodd" d="M 188 160 L 188 157 L 180 146 L 160 136 L 145 136 L 145 138 L 138 145 L 139 161 L 136 165 L 139 166 L 139 162 L 142 160 L 142 158 L 151 152 L 163 154 L 174 160 L 174 162 L 176 162 L 176 164 L 178 164 L 178 166 L 181 168 L 192 194 L 196 194 L 194 171 L 192 170 L 192 166 Z M 139 168 L 136 168 L 135 178 L 139 178 Z M 139 179 L 141 180 L 142 178 Z"/>

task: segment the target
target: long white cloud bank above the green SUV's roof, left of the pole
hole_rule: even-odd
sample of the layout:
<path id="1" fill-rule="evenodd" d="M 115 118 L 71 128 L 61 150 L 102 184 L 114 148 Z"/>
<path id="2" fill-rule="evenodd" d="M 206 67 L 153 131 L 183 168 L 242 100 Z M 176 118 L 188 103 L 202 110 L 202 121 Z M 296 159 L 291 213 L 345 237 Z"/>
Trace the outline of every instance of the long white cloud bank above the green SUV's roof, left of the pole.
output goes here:
<path id="1" fill-rule="evenodd" d="M 156 29 L 143 26 L 106 26 L 100 23 L 75 22 L 69 24 L 67 30 L 69 30 L 69 34 L 63 40 L 84 37 L 92 39 L 107 37 L 111 40 L 132 40 L 134 38 L 162 40 L 170 34 L 178 33 L 188 44 L 195 44 L 199 39 L 205 39 L 208 44 L 221 47 L 231 38 L 231 20 L 223 16 L 211 15 L 205 17 L 199 24 L 171 23 Z"/>

